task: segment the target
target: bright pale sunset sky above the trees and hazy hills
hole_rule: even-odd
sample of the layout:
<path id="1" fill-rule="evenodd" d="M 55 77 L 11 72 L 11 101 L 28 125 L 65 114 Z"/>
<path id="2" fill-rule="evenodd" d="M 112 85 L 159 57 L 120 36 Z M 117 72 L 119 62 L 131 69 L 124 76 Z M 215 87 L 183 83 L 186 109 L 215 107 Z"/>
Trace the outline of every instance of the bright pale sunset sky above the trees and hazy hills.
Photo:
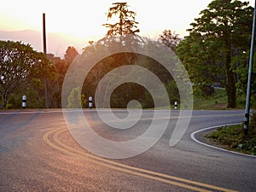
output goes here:
<path id="1" fill-rule="evenodd" d="M 241 0 L 242 1 L 242 0 Z M 98 40 L 107 33 L 102 26 L 112 3 L 109 0 L 1 0 L 0 30 L 42 31 L 43 13 L 46 15 L 47 32 L 63 33 L 79 39 Z M 199 17 L 212 0 L 126 0 L 130 9 L 137 13 L 139 35 L 157 38 L 165 29 L 181 37 L 187 35 L 189 24 Z M 253 0 L 249 0 L 254 6 Z M 1 37 L 0 37 L 1 38 Z"/>

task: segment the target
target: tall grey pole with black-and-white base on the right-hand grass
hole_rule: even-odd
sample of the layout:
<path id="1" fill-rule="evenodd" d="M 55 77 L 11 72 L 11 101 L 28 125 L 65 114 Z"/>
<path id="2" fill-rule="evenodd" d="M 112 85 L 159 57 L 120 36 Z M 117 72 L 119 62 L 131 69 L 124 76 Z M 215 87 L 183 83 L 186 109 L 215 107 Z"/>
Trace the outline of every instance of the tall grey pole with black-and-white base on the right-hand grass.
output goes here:
<path id="1" fill-rule="evenodd" d="M 244 118 L 244 135 L 247 136 L 249 129 L 249 119 L 250 119 L 250 99 L 251 99 L 251 84 L 252 84 L 252 74 L 253 74 L 253 52 L 254 52 L 254 38 L 255 38 L 255 22 L 256 22 L 256 0 L 254 3 L 254 14 L 253 14 L 253 29 L 252 29 L 252 41 L 251 41 L 251 52 L 248 68 L 248 79 L 247 79 L 247 102 Z"/>

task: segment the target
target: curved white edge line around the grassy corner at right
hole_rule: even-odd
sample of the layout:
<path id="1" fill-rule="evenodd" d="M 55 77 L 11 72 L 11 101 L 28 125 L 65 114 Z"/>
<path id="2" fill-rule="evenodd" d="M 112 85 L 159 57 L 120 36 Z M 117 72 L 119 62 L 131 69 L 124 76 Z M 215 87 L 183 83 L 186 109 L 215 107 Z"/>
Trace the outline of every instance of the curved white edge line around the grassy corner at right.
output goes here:
<path id="1" fill-rule="evenodd" d="M 227 124 L 227 125 L 216 125 L 216 126 L 211 126 L 211 127 L 207 127 L 207 128 L 204 128 L 204 129 L 201 129 L 201 130 L 198 130 L 198 131 L 194 131 L 190 134 L 190 138 L 195 142 L 195 143 L 199 143 L 201 145 L 204 145 L 204 146 L 207 146 L 209 148 L 215 148 L 215 149 L 218 149 L 218 150 L 221 150 L 221 151 L 224 151 L 224 152 L 228 152 L 228 153 L 231 153 L 231 154 L 239 154 L 239 155 L 243 155 L 243 156 L 247 156 L 247 157 L 253 157 L 253 158 L 256 158 L 256 155 L 252 155 L 252 154 L 241 154 L 241 153 L 238 153 L 236 151 L 230 151 L 230 150 L 227 150 L 227 149 L 224 149 L 224 148 L 218 148 L 218 147 L 215 147 L 215 146 L 212 146 L 212 145 L 209 145 L 207 143 L 202 143 L 200 141 L 198 141 L 196 138 L 195 138 L 195 134 L 196 133 L 199 133 L 201 131 L 207 131 L 207 130 L 211 130 L 211 129 L 217 129 L 218 127 L 222 127 L 222 126 L 229 126 L 229 125 L 239 125 L 241 123 L 236 123 L 236 124 Z"/>

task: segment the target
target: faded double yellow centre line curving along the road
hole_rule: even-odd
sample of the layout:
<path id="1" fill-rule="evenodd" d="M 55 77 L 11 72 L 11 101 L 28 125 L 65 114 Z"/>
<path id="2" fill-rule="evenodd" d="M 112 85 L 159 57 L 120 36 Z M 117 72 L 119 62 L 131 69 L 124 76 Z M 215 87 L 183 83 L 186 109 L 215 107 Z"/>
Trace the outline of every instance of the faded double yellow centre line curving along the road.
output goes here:
<path id="1" fill-rule="evenodd" d="M 55 148 L 61 152 L 79 157 L 80 159 L 83 159 L 83 160 L 89 160 L 90 162 L 108 167 L 110 169 L 113 169 L 119 172 L 125 172 L 131 175 L 153 179 L 155 181 L 172 184 L 184 189 L 191 189 L 194 191 L 208 192 L 212 190 L 218 190 L 218 191 L 234 192 L 234 190 L 220 188 L 211 184 L 199 183 L 199 182 L 191 181 L 191 180 L 180 178 L 180 177 L 173 177 L 160 172 L 152 172 L 152 171 L 141 169 L 134 166 L 127 166 L 127 165 L 115 162 L 113 160 L 103 159 L 96 155 L 86 153 L 85 151 L 71 148 L 64 143 L 61 143 L 61 140 L 59 139 L 60 135 L 65 131 L 67 131 L 67 129 L 58 129 L 58 130 L 46 132 L 43 137 L 44 142 L 49 144 L 50 147 Z"/>

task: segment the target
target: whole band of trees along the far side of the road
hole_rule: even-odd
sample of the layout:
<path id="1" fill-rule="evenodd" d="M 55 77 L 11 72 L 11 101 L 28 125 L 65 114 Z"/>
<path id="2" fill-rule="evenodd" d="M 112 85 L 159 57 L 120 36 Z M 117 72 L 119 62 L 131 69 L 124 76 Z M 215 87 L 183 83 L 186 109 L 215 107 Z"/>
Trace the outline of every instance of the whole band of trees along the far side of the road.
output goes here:
<path id="1" fill-rule="evenodd" d="M 100 57 L 103 53 L 109 53 L 111 49 L 116 50 L 122 46 L 131 48 L 131 51 L 115 52 L 96 63 L 84 79 L 83 87 L 74 87 L 69 93 L 67 107 L 77 108 L 80 102 L 83 107 L 86 106 L 86 98 L 95 95 L 96 87 L 104 75 L 125 65 L 147 68 L 165 85 L 170 101 L 179 102 L 177 84 L 166 68 L 153 58 L 132 52 L 132 48 L 139 45 L 150 53 L 166 56 L 150 45 L 155 42 L 137 36 L 139 29 L 136 15 L 127 3 L 113 3 L 108 9 L 109 23 L 102 25 L 108 28 L 107 34 L 97 42 L 90 41 L 81 56 Z M 244 94 L 247 89 L 252 20 L 253 8 L 248 6 L 248 3 L 213 0 L 207 9 L 201 11 L 200 17 L 190 24 L 189 36 L 181 39 L 175 32 L 165 30 L 157 41 L 166 44 L 183 61 L 193 83 L 195 95 L 207 96 L 208 88 L 214 84 L 224 86 L 228 96 L 227 107 L 235 108 L 236 93 Z M 28 108 L 44 108 L 45 77 L 48 79 L 49 107 L 61 108 L 62 84 L 68 67 L 77 55 L 79 53 L 73 46 L 67 47 L 64 58 L 61 58 L 38 53 L 29 44 L 0 41 L 0 108 L 20 108 L 22 95 L 27 96 Z M 256 58 L 253 63 L 252 84 L 254 102 L 255 64 Z M 175 68 L 175 64 L 172 67 Z M 178 71 L 177 68 L 175 70 Z M 154 108 L 154 101 L 148 90 L 140 84 L 130 82 L 120 84 L 113 90 L 111 107 L 125 108 L 132 99 L 141 102 L 143 108 Z"/>

